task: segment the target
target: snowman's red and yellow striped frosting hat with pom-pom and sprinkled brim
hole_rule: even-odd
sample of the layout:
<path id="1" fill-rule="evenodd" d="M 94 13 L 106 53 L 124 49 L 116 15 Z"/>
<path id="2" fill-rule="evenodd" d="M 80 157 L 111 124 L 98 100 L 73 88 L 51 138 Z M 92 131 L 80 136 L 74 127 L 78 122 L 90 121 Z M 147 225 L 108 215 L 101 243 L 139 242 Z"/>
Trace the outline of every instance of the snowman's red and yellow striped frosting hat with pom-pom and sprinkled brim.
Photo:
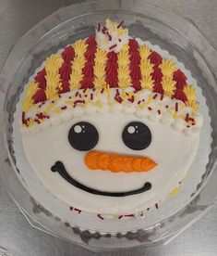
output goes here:
<path id="1" fill-rule="evenodd" d="M 57 122 L 60 113 L 62 119 L 69 119 L 79 111 L 106 108 L 164 117 L 167 122 L 173 119 L 181 130 L 201 126 L 196 89 L 187 83 L 184 72 L 175 61 L 129 38 L 123 24 L 106 19 L 104 26 L 97 25 L 95 36 L 46 58 L 26 87 L 24 130 L 52 119 Z"/>

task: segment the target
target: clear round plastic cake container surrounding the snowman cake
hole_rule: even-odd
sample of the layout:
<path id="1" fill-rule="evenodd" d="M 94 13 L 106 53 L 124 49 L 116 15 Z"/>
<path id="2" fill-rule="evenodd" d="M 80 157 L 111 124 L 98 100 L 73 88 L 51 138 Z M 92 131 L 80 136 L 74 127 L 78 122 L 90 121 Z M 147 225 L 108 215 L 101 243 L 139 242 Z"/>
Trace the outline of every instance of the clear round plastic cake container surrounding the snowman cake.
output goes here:
<path id="1" fill-rule="evenodd" d="M 30 194 L 22 170 L 17 168 L 13 121 L 23 86 L 44 58 L 79 38 L 87 37 L 94 31 L 94 26 L 107 17 L 125 20 L 131 36 L 159 45 L 184 63 L 197 79 L 210 109 L 212 143 L 209 163 L 204 170 L 200 170 L 199 183 L 188 195 L 187 203 L 173 212 L 156 209 L 159 215 L 156 222 L 149 223 L 146 214 L 136 220 L 94 219 L 88 212 L 80 214 L 70 208 L 68 214 L 72 214 L 75 223 L 66 221 L 66 216 L 55 214 Z M 1 178 L 30 224 L 89 250 L 99 251 L 165 244 L 199 219 L 211 208 L 217 195 L 216 59 L 215 48 L 191 20 L 143 1 L 112 0 L 63 6 L 20 38 L 11 48 L 0 77 L 4 124 L 1 145 L 5 145 L 1 153 Z"/>

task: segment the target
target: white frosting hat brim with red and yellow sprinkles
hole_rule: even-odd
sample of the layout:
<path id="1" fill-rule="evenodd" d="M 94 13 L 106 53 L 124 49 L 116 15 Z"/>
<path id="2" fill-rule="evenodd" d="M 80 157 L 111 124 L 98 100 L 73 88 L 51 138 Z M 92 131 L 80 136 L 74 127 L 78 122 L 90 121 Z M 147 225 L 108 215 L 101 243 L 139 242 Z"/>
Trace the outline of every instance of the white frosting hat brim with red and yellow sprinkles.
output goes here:
<path id="1" fill-rule="evenodd" d="M 188 135 L 191 134 L 191 131 L 193 131 L 192 134 L 199 132 L 199 129 L 195 128 L 200 128 L 202 125 L 203 118 L 201 114 L 187 107 L 182 101 L 171 99 L 168 96 L 163 96 L 162 98 L 161 95 L 151 93 L 147 89 L 134 92 L 133 88 L 127 87 L 126 89 L 118 88 L 118 94 L 122 97 L 122 102 L 118 102 L 115 100 L 116 90 L 116 88 L 111 88 L 108 93 L 106 90 L 102 92 L 101 89 L 94 91 L 89 89 L 88 94 L 84 93 L 83 90 L 78 90 L 78 97 L 75 96 L 75 92 L 68 92 L 62 95 L 59 100 L 54 101 L 54 103 L 48 100 L 42 105 L 41 103 L 35 104 L 26 112 L 26 118 L 35 120 L 37 119 L 37 114 L 42 112 L 44 115 L 49 115 L 50 119 L 42 119 L 40 124 L 34 122 L 28 129 L 23 129 L 22 126 L 20 129 L 21 133 L 31 133 L 31 130 L 33 130 L 33 133 L 37 133 L 49 128 L 50 125 L 67 122 L 82 116 L 84 113 L 93 115 L 96 112 L 106 113 L 108 111 L 114 113 L 124 111 L 127 114 L 134 114 L 139 118 L 148 117 L 152 122 L 161 121 L 164 124 L 172 125 L 175 130 L 185 131 L 185 134 Z M 131 97 L 130 95 L 128 98 L 124 97 L 126 93 L 133 94 L 134 102 L 128 101 L 128 98 Z M 153 97 L 155 98 L 153 99 Z M 75 105 L 74 103 L 78 100 L 82 100 L 85 103 Z M 69 105 L 68 102 L 71 104 Z M 46 111 L 51 104 L 53 109 Z M 176 105 L 178 106 L 177 111 L 175 110 Z M 56 108 L 60 109 L 57 113 L 54 112 Z M 192 114 L 194 114 L 194 125 L 185 120 L 187 115 L 190 117 Z M 38 128 L 35 128 L 35 126 L 38 126 Z"/>

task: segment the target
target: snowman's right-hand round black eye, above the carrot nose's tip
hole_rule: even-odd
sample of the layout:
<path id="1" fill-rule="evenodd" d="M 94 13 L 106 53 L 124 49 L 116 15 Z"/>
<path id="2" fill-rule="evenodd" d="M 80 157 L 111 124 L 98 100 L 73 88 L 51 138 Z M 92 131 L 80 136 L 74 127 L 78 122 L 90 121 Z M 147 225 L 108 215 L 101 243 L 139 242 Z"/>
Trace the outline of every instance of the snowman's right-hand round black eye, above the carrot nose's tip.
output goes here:
<path id="1" fill-rule="evenodd" d="M 151 144 L 150 128 L 143 122 L 129 122 L 122 133 L 125 145 L 134 150 L 141 150 Z"/>

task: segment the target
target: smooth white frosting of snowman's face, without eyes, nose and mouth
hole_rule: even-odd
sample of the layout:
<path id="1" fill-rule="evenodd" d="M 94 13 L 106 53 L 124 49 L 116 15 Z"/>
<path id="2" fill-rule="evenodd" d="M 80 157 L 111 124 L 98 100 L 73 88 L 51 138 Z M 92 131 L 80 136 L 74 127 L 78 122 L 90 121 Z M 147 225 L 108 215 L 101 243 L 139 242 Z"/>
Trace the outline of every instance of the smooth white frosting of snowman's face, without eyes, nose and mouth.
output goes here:
<path id="1" fill-rule="evenodd" d="M 159 165 L 148 173 L 111 173 L 109 171 L 92 171 L 84 163 L 86 152 L 70 146 L 67 134 L 76 122 L 91 122 L 100 134 L 99 143 L 94 150 L 115 152 L 130 156 L 147 156 Z M 151 146 L 144 150 L 134 151 L 122 141 L 122 131 L 128 122 L 144 122 L 151 129 Z M 35 125 L 38 127 L 39 125 Z M 161 122 L 152 122 L 147 118 L 137 118 L 135 114 L 119 112 L 95 113 L 74 117 L 71 121 L 53 125 L 41 133 L 22 135 L 23 147 L 30 166 L 54 196 L 69 205 L 84 211 L 102 212 L 106 214 L 123 214 L 142 209 L 149 200 L 163 198 L 172 186 L 177 184 L 177 177 L 185 173 L 194 159 L 199 145 L 199 133 L 187 136 L 175 131 L 171 126 Z M 120 192 L 138 189 L 145 182 L 151 182 L 151 190 L 126 198 L 103 198 L 82 191 L 67 183 L 51 167 L 55 161 L 61 160 L 66 171 L 78 182 L 103 191 Z M 103 199 L 102 199 L 103 198 Z M 131 203 L 128 204 L 128 200 Z M 99 203 L 99 201 L 101 203 Z"/>

